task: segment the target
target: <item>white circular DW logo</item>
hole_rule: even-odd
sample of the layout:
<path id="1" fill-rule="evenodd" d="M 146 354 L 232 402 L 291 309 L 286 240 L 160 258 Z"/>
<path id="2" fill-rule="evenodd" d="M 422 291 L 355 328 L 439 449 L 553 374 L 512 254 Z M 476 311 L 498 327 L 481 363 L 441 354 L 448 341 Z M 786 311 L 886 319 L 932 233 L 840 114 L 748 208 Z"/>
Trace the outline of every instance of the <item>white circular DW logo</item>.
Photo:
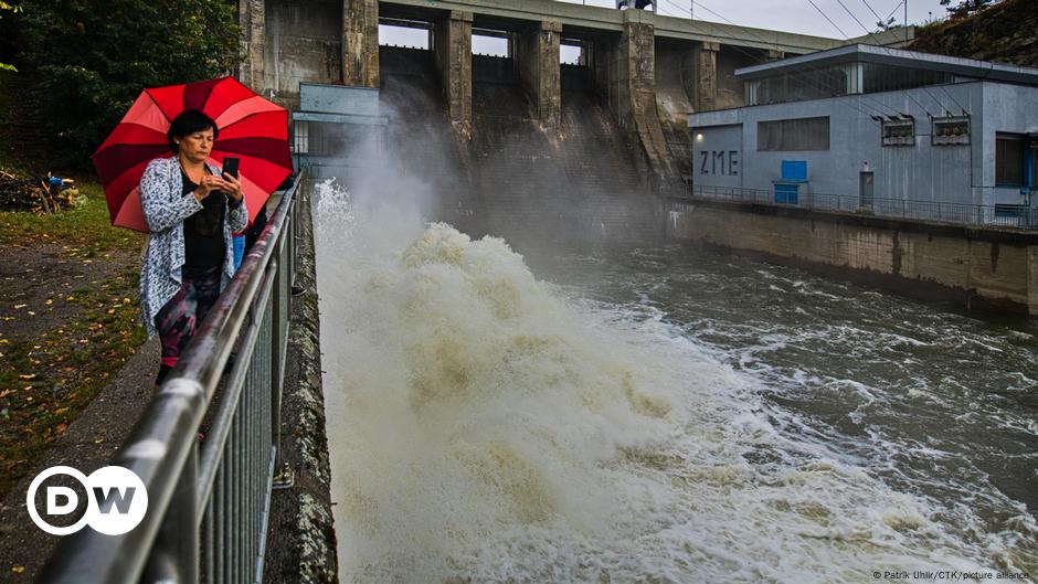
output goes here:
<path id="1" fill-rule="evenodd" d="M 49 523 L 36 509 L 36 491 L 44 480 L 56 475 L 74 478 L 86 491 L 86 511 L 71 525 Z M 68 516 L 80 508 L 80 496 L 71 487 L 49 486 L 44 492 L 49 517 Z M 140 477 L 120 466 L 98 468 L 88 477 L 72 467 L 53 466 L 32 479 L 25 495 L 25 507 L 33 523 L 53 535 L 68 535 L 84 525 L 106 535 L 121 535 L 136 528 L 145 518 L 148 491 Z"/>

